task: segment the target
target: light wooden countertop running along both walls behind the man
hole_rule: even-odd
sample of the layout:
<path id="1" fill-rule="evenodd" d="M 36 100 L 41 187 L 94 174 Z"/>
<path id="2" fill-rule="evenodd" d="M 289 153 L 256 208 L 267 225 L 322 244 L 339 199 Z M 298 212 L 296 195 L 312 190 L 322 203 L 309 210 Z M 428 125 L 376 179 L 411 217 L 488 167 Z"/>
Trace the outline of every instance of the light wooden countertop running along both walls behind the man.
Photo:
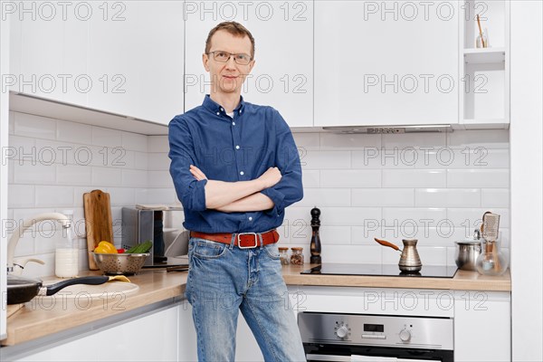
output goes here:
<path id="1" fill-rule="evenodd" d="M 290 285 L 342 286 L 367 288 L 406 288 L 459 291 L 510 291 L 510 271 L 500 277 L 480 275 L 476 271 L 457 271 L 452 279 L 405 278 L 384 276 L 302 275 L 300 271 L 315 265 L 283 266 L 283 278 Z M 82 275 L 100 274 L 88 271 Z M 74 300 L 56 299 L 46 305 L 40 297 L 25 303 L 22 310 L 7 319 L 7 338 L 3 346 L 13 346 L 35 338 L 82 326 L 158 301 L 180 297 L 185 292 L 187 272 L 142 271 L 129 277 L 139 290 L 124 300 L 93 299 L 89 305 Z M 84 300 L 85 303 L 87 300 Z"/>

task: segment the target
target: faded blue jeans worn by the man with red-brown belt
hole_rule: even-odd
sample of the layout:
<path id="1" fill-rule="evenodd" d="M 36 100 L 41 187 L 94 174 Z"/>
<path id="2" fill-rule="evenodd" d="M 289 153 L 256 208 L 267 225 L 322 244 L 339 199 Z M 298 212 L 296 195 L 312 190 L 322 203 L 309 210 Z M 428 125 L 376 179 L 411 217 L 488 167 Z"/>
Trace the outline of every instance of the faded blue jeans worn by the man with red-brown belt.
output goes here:
<path id="1" fill-rule="evenodd" d="M 241 310 L 264 360 L 305 361 L 277 244 L 240 249 L 191 238 L 188 258 L 186 298 L 193 307 L 198 360 L 233 361 Z"/>

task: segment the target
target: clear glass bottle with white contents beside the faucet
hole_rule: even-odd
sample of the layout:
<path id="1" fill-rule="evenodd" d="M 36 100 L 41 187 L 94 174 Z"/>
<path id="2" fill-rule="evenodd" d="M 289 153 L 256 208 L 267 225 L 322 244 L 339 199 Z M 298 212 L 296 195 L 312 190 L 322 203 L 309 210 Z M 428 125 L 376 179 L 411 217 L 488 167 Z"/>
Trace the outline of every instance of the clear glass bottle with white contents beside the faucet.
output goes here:
<path id="1" fill-rule="evenodd" d="M 71 223 L 69 227 L 62 225 L 54 253 L 54 273 L 59 278 L 73 278 L 79 272 L 79 248 L 73 237 L 73 211 L 63 210 L 62 214 L 68 216 Z"/>

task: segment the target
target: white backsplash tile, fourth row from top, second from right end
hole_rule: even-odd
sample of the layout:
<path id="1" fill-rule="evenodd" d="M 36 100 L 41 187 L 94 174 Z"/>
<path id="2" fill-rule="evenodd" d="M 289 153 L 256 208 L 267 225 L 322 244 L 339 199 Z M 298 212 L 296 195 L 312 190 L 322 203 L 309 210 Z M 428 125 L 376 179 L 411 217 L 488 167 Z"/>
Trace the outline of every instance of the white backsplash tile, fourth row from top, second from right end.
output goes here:
<path id="1" fill-rule="evenodd" d="M 417 207 L 479 207 L 481 190 L 478 188 L 417 188 L 414 190 L 414 205 Z"/>

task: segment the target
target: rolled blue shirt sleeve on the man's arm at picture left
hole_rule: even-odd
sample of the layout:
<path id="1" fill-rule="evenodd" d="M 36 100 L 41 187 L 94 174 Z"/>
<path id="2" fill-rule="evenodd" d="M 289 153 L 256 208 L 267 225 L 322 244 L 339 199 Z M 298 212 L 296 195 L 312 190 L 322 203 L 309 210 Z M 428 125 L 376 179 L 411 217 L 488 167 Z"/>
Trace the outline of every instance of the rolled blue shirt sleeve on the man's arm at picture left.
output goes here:
<path id="1" fill-rule="evenodd" d="M 190 165 L 196 164 L 195 151 L 190 131 L 180 116 L 172 119 L 169 124 L 168 141 L 170 175 L 176 187 L 177 198 L 187 210 L 204 211 L 207 180 L 197 181 L 190 173 Z"/>

